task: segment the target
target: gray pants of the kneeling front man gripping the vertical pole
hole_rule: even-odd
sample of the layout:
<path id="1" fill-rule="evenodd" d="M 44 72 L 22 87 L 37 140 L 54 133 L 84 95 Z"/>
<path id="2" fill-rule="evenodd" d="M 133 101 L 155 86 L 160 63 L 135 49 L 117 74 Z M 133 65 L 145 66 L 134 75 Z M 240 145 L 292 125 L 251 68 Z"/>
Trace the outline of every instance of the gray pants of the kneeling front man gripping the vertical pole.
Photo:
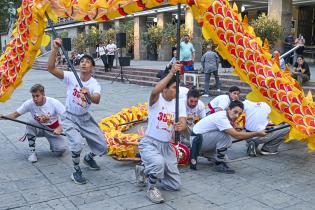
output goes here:
<path id="1" fill-rule="evenodd" d="M 156 177 L 166 190 L 179 190 L 181 181 L 177 158 L 169 142 L 145 136 L 139 144 L 144 173 Z"/>

